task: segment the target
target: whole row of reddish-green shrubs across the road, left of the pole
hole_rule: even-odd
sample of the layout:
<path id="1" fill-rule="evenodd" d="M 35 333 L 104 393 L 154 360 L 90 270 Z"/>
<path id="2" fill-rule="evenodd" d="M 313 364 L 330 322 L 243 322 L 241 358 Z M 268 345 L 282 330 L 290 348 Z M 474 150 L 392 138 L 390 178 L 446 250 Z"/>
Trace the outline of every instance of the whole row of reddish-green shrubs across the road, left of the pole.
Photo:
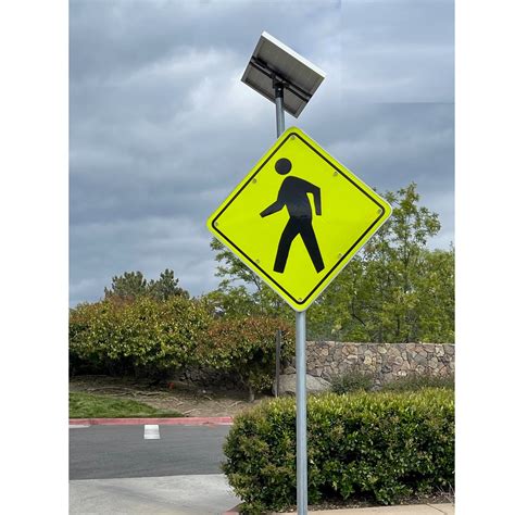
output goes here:
<path id="1" fill-rule="evenodd" d="M 70 312 L 71 373 L 165 378 L 185 367 L 223 370 L 238 377 L 253 398 L 271 388 L 276 331 L 281 359 L 294 352 L 294 328 L 280 318 L 213 318 L 204 303 L 109 298 Z"/>

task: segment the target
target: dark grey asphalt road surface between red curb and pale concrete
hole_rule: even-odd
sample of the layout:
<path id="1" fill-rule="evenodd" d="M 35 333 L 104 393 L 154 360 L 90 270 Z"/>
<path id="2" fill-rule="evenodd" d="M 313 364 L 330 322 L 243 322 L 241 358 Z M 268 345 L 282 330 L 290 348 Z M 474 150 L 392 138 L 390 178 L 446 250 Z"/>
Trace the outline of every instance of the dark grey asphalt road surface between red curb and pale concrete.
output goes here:
<path id="1" fill-rule="evenodd" d="M 145 426 L 70 429 L 70 479 L 222 474 L 222 447 L 230 426 L 160 426 L 159 440 Z"/>

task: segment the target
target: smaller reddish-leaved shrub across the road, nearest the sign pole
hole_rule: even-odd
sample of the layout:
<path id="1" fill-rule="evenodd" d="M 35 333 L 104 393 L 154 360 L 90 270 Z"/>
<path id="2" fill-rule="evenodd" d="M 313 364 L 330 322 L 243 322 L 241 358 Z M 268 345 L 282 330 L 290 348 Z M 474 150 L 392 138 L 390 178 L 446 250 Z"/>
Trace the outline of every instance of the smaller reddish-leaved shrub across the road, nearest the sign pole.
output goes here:
<path id="1" fill-rule="evenodd" d="M 294 353 L 294 329 L 269 316 L 213 321 L 199 349 L 200 363 L 237 375 L 253 400 L 254 391 L 272 387 L 277 329 L 282 332 L 281 361 L 286 363 Z"/>

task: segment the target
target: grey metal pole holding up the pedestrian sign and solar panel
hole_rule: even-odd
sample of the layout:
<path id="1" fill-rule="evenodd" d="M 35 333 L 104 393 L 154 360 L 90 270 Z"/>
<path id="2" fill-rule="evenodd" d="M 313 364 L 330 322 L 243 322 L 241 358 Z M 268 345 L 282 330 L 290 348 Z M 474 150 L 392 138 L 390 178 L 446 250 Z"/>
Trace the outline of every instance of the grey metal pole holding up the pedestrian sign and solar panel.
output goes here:
<path id="1" fill-rule="evenodd" d="M 274 77 L 277 137 L 285 131 L 284 84 Z M 296 313 L 297 513 L 307 515 L 307 424 L 305 404 L 305 311 Z M 277 385 L 278 388 L 278 385 Z"/>

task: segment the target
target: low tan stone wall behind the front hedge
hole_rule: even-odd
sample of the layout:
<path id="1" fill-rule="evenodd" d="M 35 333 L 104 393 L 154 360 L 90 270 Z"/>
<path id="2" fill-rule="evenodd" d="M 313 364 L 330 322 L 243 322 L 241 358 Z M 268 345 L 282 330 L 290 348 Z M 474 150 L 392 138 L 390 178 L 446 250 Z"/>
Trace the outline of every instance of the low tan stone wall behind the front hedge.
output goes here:
<path id="1" fill-rule="evenodd" d="M 449 377 L 454 374 L 454 344 L 309 341 L 306 370 L 324 379 L 361 370 L 374 374 L 377 384 L 407 375 Z M 292 360 L 285 373 L 294 372 Z"/>

